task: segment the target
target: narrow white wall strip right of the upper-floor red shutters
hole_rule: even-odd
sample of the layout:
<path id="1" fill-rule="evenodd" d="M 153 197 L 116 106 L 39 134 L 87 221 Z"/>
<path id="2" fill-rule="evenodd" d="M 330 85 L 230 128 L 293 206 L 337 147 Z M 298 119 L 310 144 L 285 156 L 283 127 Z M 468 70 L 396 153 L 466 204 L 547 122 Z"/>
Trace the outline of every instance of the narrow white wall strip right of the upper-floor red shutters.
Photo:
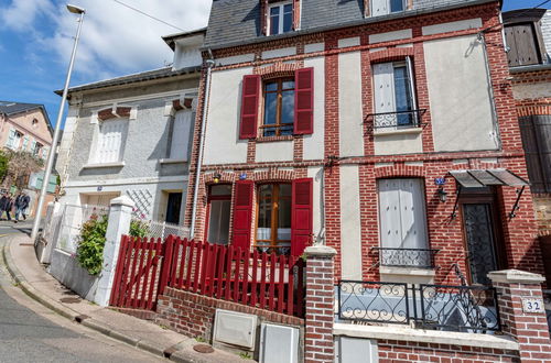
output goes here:
<path id="1" fill-rule="evenodd" d="M 304 135 L 303 158 L 323 160 L 325 143 L 325 58 L 304 61 L 304 67 L 314 67 L 314 133 Z"/>

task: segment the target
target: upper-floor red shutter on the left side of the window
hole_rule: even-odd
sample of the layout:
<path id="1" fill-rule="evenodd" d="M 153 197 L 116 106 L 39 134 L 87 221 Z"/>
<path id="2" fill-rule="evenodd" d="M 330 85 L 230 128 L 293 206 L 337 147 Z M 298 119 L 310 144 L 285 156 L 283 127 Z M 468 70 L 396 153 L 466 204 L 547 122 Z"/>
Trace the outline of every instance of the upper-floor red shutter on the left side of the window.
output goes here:
<path id="1" fill-rule="evenodd" d="M 251 139 L 257 136 L 259 98 L 260 76 L 245 76 L 241 90 L 241 124 L 239 128 L 239 139 Z"/>

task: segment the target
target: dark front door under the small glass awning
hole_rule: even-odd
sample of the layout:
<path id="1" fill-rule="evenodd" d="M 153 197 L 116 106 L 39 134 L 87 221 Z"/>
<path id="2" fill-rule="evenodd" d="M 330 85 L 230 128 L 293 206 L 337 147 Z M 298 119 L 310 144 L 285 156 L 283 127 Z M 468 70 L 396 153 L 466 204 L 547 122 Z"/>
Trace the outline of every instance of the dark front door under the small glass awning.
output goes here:
<path id="1" fill-rule="evenodd" d="M 471 283 L 490 285 L 488 273 L 505 263 L 495 201 L 489 195 L 465 199 L 462 209 Z"/>

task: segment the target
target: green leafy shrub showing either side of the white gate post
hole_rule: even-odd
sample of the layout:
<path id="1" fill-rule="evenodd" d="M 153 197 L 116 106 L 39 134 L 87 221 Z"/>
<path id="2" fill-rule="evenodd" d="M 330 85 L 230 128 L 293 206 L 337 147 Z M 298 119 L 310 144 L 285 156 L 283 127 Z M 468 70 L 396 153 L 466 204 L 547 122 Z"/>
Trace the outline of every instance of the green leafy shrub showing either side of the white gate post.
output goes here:
<path id="1" fill-rule="evenodd" d="M 95 276 L 101 272 L 104 264 L 104 246 L 107 232 L 107 216 L 93 215 L 80 228 L 76 257 L 78 264 Z M 143 221 L 132 220 L 129 234 L 134 238 L 144 238 L 149 233 L 149 227 Z"/>

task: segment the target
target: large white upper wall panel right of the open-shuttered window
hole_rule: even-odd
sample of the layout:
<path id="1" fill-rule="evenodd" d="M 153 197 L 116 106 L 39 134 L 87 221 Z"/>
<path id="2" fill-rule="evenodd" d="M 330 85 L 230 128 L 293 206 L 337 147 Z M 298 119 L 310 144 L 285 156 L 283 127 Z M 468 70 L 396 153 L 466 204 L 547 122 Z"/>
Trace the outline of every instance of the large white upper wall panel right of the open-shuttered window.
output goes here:
<path id="1" fill-rule="evenodd" d="M 424 43 L 434 148 L 496 150 L 485 51 L 476 35 Z"/>

